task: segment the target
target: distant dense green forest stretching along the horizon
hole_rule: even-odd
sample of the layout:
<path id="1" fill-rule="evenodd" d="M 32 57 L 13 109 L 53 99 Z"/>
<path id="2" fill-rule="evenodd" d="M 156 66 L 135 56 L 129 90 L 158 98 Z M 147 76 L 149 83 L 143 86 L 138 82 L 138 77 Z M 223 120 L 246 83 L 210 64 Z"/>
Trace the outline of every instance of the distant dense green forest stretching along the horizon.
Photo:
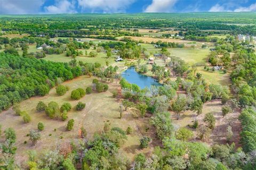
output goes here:
<path id="1" fill-rule="evenodd" d="M 62 14 L 2 15 L 0 28 L 13 33 L 45 34 L 50 37 L 81 35 L 133 35 L 122 28 L 177 28 L 184 31 L 223 30 L 234 35 L 256 34 L 254 14 L 244 13 L 141 13 L 141 14 Z M 82 30 L 81 30 L 82 29 Z M 85 30 L 83 30 L 85 29 Z"/>

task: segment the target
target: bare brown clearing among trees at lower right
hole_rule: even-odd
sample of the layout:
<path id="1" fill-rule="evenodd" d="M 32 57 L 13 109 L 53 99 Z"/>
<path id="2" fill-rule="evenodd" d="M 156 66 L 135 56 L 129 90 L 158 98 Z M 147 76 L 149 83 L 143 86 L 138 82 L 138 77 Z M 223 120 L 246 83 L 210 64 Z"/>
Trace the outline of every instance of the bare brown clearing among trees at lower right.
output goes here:
<path id="1" fill-rule="evenodd" d="M 182 128 L 188 126 L 189 124 L 193 124 L 194 119 L 198 118 L 199 124 L 203 124 L 204 115 L 206 113 L 213 112 L 214 117 L 216 118 L 215 128 L 212 130 L 210 139 L 205 142 L 209 145 L 227 143 L 226 129 L 227 126 L 230 125 L 234 133 L 233 138 L 231 139 L 231 143 L 234 142 L 236 147 L 241 147 L 241 144 L 239 143 L 241 122 L 238 120 L 240 111 L 234 111 L 233 113 L 229 113 L 222 118 L 221 107 L 221 100 L 212 100 L 203 105 L 203 113 L 201 115 L 197 116 L 196 113 L 193 113 L 192 111 L 186 111 L 180 116 L 180 119 L 178 121 L 176 120 L 177 116 L 172 113 L 173 123 L 175 124 L 175 127 Z M 198 139 L 196 139 L 196 131 L 191 128 L 189 129 L 194 131 L 195 136 L 193 140 L 199 141 Z"/>

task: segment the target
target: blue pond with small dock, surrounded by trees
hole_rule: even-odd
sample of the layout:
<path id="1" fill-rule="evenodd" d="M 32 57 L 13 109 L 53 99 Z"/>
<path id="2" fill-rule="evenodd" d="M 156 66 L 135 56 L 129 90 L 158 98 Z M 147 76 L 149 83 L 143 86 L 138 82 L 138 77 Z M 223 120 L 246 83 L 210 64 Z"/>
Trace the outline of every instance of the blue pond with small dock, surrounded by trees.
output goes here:
<path id="1" fill-rule="evenodd" d="M 129 75 L 128 75 L 129 74 Z M 135 67 L 131 66 L 122 73 L 122 77 L 126 79 L 129 83 L 137 84 L 141 89 L 145 87 L 150 88 L 150 86 L 162 86 L 161 83 L 158 83 L 156 79 L 151 78 L 147 75 L 142 75 L 135 71 Z"/>

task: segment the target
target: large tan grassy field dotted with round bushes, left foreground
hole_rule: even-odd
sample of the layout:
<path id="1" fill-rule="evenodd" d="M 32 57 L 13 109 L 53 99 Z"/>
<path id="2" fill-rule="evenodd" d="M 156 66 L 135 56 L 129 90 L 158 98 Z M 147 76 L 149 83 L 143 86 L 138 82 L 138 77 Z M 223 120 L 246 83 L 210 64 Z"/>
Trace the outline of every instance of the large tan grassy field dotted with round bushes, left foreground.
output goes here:
<path id="1" fill-rule="evenodd" d="M 93 94 L 85 95 L 85 97 L 79 100 L 72 100 L 70 98 L 72 90 L 77 88 L 85 89 L 88 86 L 92 86 L 93 79 L 93 77 L 88 78 L 83 76 L 64 82 L 63 85 L 68 86 L 70 90 L 63 96 L 58 96 L 55 89 L 52 89 L 47 96 L 33 97 L 22 101 L 20 104 L 21 110 L 27 111 L 31 116 L 30 123 L 23 123 L 22 117 L 16 116 L 12 109 L 0 114 L 0 124 L 3 125 L 2 129 L 4 130 L 11 127 L 17 132 L 17 158 L 20 162 L 26 160 L 27 150 L 42 151 L 44 149 L 51 149 L 51 147 L 54 148 L 62 142 L 77 141 L 78 127 L 80 123 L 84 125 L 89 139 L 92 139 L 94 133 L 102 132 L 103 125 L 107 121 L 111 123 L 111 127 L 118 126 L 123 130 L 126 130 L 128 126 L 131 126 L 133 132 L 128 136 L 127 142 L 121 149 L 126 152 L 126 155 L 130 159 L 141 151 L 145 153 L 151 151 L 151 147 L 143 150 L 139 149 L 139 139 L 143 135 L 151 136 L 152 134 L 151 137 L 154 139 L 153 128 L 149 125 L 148 118 L 134 118 L 133 113 L 137 112 L 134 109 L 127 109 L 127 111 L 124 112 L 122 119 L 119 118 L 118 108 L 121 103 L 113 98 L 110 92 L 113 89 L 119 88 L 117 82 L 109 84 L 109 90 L 107 92 L 102 92 L 100 94 L 94 92 Z M 50 101 L 56 101 L 60 106 L 65 102 L 69 102 L 73 108 L 68 112 L 68 119 L 73 118 L 75 120 L 74 130 L 66 131 L 67 121 L 51 120 L 44 112 L 36 112 L 35 108 L 38 101 L 44 101 L 46 104 Z M 86 107 L 83 111 L 75 111 L 74 107 L 78 101 L 86 103 Z M 95 123 L 95 121 L 97 121 L 97 123 Z M 41 140 L 38 141 L 36 147 L 33 147 L 26 134 L 28 134 L 30 130 L 37 129 L 38 122 L 43 122 L 45 129 L 42 131 Z M 149 131 L 146 132 L 147 127 L 149 128 Z M 56 129 L 56 131 L 54 131 L 54 129 Z M 61 139 L 62 137 L 63 139 Z M 27 141 L 28 143 L 25 144 L 24 141 Z M 151 145 L 154 145 L 154 142 Z"/>

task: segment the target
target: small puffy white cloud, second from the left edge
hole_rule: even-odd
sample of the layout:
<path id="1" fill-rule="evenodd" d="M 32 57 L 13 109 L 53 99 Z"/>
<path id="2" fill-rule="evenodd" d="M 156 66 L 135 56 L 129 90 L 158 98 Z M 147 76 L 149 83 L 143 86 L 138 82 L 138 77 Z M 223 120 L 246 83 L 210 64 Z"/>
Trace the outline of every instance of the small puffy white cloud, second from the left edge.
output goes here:
<path id="1" fill-rule="evenodd" d="M 68 0 L 55 1 L 54 5 L 45 6 L 44 10 L 49 14 L 77 13 L 75 1 L 69 2 Z"/>

